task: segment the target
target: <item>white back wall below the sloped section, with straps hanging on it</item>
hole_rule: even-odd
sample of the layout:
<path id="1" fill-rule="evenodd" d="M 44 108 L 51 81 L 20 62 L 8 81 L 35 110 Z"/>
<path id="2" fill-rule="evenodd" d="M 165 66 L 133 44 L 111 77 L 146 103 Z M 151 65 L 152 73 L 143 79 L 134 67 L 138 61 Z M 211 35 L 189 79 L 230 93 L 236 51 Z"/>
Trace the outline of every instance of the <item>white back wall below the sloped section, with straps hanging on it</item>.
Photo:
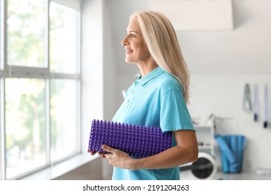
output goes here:
<path id="1" fill-rule="evenodd" d="M 229 75 L 194 74 L 191 78 L 190 114 L 206 118 L 210 113 L 217 116 L 217 132 L 220 134 L 243 134 L 247 136 L 244 152 L 244 169 L 271 168 L 271 130 L 263 128 L 263 87 L 268 84 L 271 91 L 270 75 Z M 259 121 L 253 120 L 253 112 L 243 109 L 245 84 L 252 89 L 259 86 L 260 114 Z M 271 98 L 269 98 L 269 107 Z M 215 142 L 217 146 L 217 143 Z M 218 148 L 216 148 L 218 150 Z M 216 151 L 217 152 L 217 151 Z M 218 152 L 217 161 L 220 161 Z"/>

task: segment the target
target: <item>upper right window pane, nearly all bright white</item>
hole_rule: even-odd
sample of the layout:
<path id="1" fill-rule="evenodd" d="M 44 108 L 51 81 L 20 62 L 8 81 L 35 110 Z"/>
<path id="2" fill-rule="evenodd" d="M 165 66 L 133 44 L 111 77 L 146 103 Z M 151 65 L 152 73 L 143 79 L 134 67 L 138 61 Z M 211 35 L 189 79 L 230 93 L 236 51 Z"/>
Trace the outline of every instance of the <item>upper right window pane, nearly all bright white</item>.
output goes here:
<path id="1" fill-rule="evenodd" d="M 54 73 L 76 73 L 78 12 L 50 3 L 50 70 Z"/>

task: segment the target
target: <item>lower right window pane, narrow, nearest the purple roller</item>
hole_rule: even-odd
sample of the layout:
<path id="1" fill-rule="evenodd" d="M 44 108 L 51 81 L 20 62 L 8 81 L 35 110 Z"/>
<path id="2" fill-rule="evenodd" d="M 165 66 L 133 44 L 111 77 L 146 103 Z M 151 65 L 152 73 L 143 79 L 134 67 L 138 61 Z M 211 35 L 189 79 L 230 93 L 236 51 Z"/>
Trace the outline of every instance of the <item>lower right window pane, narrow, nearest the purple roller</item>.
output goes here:
<path id="1" fill-rule="evenodd" d="M 51 160 L 76 153 L 76 80 L 51 80 Z"/>

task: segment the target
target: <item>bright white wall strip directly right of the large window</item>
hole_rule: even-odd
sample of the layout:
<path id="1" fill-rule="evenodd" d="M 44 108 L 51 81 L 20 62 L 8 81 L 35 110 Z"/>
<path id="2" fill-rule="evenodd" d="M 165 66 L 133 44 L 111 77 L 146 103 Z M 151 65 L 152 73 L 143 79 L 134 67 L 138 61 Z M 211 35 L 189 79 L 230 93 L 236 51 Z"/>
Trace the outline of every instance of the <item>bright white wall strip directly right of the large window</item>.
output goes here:
<path id="1" fill-rule="evenodd" d="M 92 119 L 104 117 L 103 101 L 103 3 L 85 1 L 82 6 L 81 122 L 83 151 L 88 149 Z M 95 53 L 94 55 L 92 53 Z"/>

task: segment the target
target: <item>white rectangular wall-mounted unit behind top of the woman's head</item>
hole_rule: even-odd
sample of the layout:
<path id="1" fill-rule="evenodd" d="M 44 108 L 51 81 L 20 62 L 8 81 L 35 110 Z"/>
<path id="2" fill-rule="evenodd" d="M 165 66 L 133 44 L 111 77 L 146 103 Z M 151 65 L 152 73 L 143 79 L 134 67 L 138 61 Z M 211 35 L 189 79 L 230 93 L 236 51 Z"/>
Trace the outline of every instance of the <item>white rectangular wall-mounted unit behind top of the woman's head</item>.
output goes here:
<path id="1" fill-rule="evenodd" d="M 232 30 L 231 0 L 153 0 L 151 9 L 167 16 L 176 30 Z"/>

